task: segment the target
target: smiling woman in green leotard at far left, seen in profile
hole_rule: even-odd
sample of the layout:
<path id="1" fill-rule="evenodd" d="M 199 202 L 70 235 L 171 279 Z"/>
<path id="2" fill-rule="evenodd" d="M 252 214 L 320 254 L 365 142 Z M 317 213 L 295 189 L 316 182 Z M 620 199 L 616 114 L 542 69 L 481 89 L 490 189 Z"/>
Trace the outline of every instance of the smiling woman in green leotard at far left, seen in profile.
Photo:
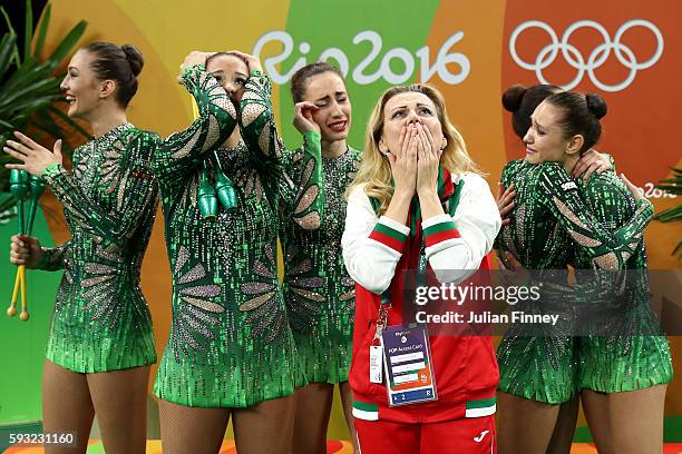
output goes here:
<path id="1" fill-rule="evenodd" d="M 156 362 L 152 319 L 139 288 L 142 259 L 158 203 L 150 171 L 156 137 L 126 119 L 143 58 L 133 46 L 91 43 L 76 52 L 61 83 L 68 115 L 95 138 L 78 147 L 72 170 L 26 136 L 12 156 L 45 177 L 64 206 L 71 238 L 40 248 L 12 239 L 12 263 L 64 269 L 42 376 L 46 433 L 75 433 L 85 453 L 94 414 L 111 453 L 144 453 L 146 389 Z M 7 150 L 7 148 L 6 148 Z M 46 445 L 47 452 L 60 452 Z M 69 451 L 74 452 L 74 451 Z"/>

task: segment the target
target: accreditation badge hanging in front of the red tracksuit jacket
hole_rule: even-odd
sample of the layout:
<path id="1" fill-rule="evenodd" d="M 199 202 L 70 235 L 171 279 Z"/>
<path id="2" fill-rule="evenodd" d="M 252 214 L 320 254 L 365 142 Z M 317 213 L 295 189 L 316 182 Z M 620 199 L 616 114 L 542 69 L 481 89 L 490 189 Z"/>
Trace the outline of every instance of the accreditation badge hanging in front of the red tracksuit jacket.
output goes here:
<path id="1" fill-rule="evenodd" d="M 436 401 L 438 395 L 427 326 L 388 326 L 381 333 L 381 340 L 389 405 Z"/>

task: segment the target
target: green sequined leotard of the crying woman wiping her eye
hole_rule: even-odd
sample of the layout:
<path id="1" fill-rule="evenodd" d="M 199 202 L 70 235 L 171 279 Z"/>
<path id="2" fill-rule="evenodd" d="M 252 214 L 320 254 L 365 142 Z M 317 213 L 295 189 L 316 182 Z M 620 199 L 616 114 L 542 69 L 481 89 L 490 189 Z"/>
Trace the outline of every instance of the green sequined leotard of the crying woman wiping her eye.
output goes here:
<path id="1" fill-rule="evenodd" d="M 306 178 L 303 149 L 286 152 L 284 167 Z M 324 218 L 306 230 L 283 219 L 284 295 L 303 372 L 309 382 L 348 381 L 353 340 L 355 283 L 341 254 L 345 189 L 360 164 L 360 151 L 348 148 L 338 158 L 322 158 Z"/>

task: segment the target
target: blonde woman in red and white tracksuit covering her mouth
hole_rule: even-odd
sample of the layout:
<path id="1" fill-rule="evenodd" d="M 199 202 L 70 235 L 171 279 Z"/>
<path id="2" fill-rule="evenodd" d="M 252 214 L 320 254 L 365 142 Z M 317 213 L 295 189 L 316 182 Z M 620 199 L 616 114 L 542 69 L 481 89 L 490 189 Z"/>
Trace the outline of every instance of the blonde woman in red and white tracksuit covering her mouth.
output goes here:
<path id="1" fill-rule="evenodd" d="M 500 226 L 490 189 L 440 92 L 425 85 L 386 91 L 348 190 L 342 239 L 345 267 L 357 282 L 349 381 L 362 454 L 495 452 L 498 369 L 490 337 L 431 333 L 438 398 L 401 406 L 389 405 L 386 379 L 370 382 L 370 346 L 380 337 L 378 323 L 403 323 L 403 270 L 428 268 L 438 282 L 461 283 L 489 268 L 487 254 Z"/>

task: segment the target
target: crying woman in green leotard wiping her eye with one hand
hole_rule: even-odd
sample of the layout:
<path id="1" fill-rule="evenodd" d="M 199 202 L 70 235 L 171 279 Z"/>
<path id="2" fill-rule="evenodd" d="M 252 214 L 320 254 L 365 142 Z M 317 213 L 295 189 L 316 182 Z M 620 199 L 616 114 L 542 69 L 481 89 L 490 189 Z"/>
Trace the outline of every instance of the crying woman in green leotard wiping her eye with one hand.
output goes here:
<path id="1" fill-rule="evenodd" d="M 328 63 L 299 69 L 291 79 L 296 108 L 306 112 L 322 138 L 324 218 L 306 230 L 282 219 L 284 297 L 303 372 L 309 385 L 296 389 L 293 452 L 319 453 L 327 444 L 327 426 L 334 384 L 339 384 L 351 440 L 352 392 L 348 384 L 353 336 L 354 282 L 341 254 L 345 189 L 360 164 L 360 152 L 345 141 L 351 101 L 341 72 Z M 295 122 L 302 132 L 305 125 Z M 303 175 L 302 149 L 284 154 L 284 167 Z"/>

